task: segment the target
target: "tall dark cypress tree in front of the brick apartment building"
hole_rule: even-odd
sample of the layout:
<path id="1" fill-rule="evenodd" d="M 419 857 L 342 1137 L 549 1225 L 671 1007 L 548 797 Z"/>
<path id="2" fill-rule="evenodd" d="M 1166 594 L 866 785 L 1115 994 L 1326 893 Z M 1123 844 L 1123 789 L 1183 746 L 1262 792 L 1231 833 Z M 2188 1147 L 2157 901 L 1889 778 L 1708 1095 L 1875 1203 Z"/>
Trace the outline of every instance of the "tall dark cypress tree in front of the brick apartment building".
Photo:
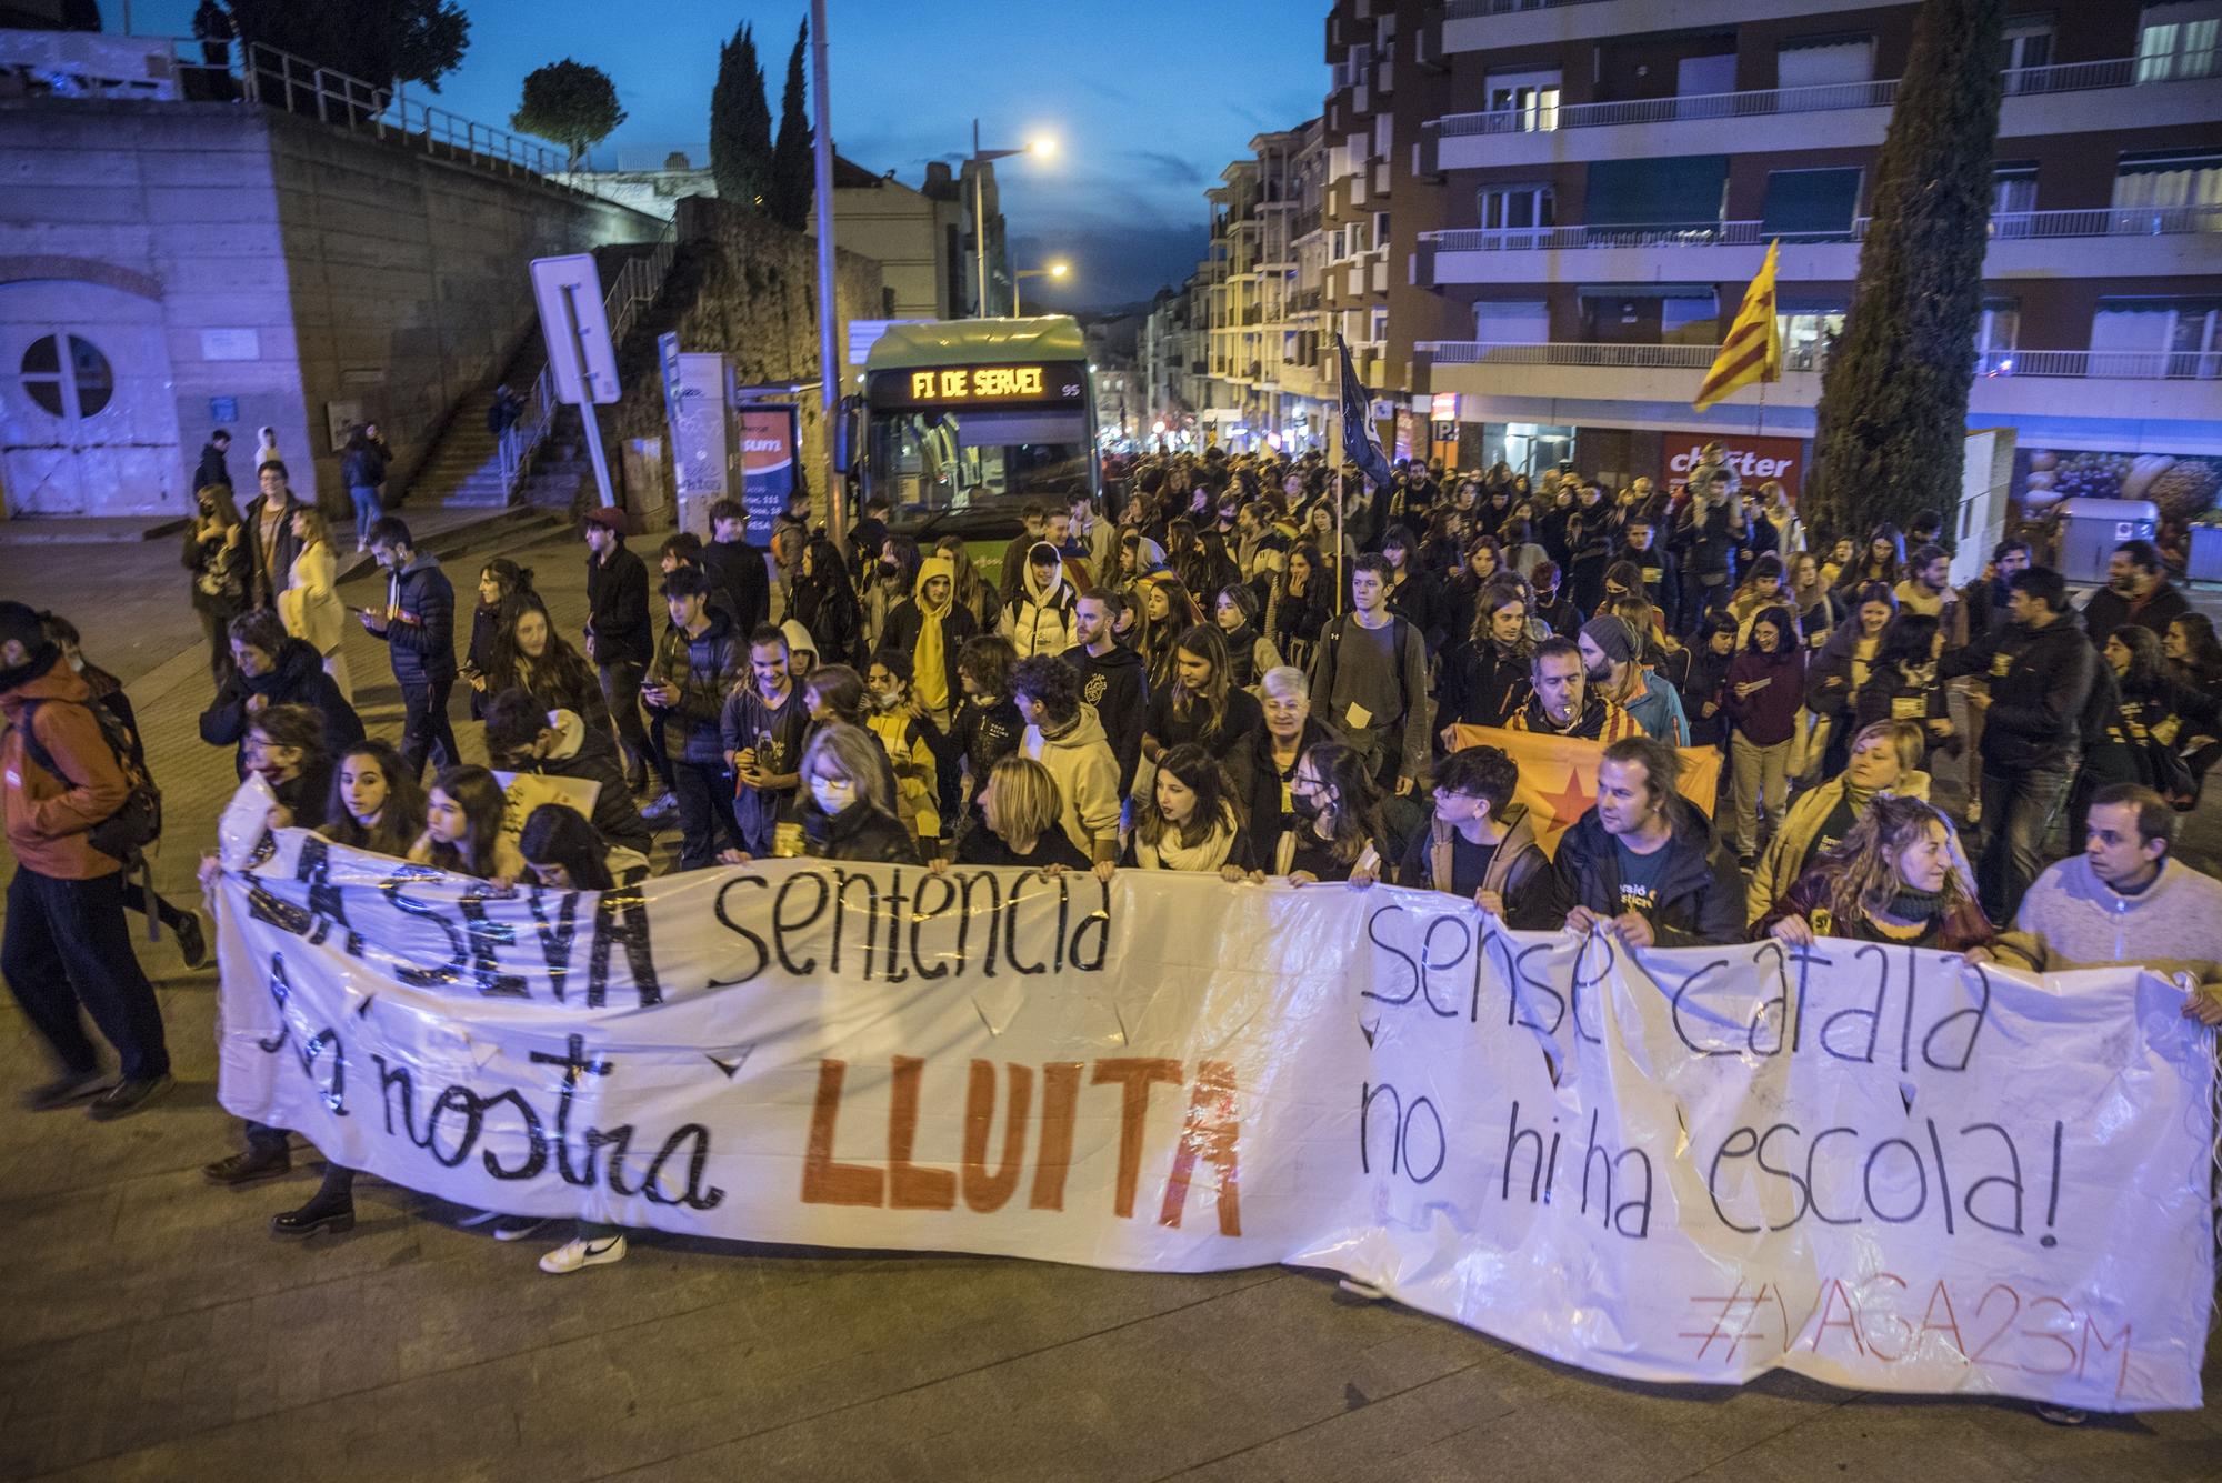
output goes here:
<path id="1" fill-rule="evenodd" d="M 1904 528 L 1960 500 L 1982 320 L 2004 0 L 1929 0 L 1875 158 L 1860 280 L 1829 369 L 1809 524 Z"/>

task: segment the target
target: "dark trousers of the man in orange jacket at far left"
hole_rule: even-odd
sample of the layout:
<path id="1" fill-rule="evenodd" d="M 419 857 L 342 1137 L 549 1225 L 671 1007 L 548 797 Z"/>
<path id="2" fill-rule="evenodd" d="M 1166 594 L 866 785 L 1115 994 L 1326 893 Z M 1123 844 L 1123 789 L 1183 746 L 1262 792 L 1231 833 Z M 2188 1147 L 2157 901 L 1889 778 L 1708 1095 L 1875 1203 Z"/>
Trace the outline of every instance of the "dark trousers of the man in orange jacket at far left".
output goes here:
<path id="1" fill-rule="evenodd" d="M 116 1046 L 129 1081 L 169 1075 L 162 1006 L 131 952 L 124 926 L 124 877 L 64 881 L 27 866 L 7 886 L 7 937 L 0 972 L 38 1030 L 71 1072 L 100 1068 L 78 1006 Z"/>

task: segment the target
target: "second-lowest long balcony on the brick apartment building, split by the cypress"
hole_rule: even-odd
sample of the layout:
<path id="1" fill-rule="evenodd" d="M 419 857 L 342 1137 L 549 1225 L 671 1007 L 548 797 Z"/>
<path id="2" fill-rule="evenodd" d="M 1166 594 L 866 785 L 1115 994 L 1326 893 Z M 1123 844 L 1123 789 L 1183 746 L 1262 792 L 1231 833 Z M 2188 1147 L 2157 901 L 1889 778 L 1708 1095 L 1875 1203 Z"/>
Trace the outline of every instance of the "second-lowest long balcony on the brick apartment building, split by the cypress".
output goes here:
<path id="1" fill-rule="evenodd" d="M 1844 233 L 1782 235 L 1782 278 L 1858 275 L 1869 218 Z M 1489 226 L 1420 233 L 1420 282 L 1726 282 L 1758 273 L 1764 222 Z M 2086 246 L 2060 246 L 2084 242 Z M 1560 260 L 1560 253 L 1580 253 Z M 2095 206 L 1991 218 L 1984 278 L 2169 278 L 2222 273 L 2222 206 Z"/>

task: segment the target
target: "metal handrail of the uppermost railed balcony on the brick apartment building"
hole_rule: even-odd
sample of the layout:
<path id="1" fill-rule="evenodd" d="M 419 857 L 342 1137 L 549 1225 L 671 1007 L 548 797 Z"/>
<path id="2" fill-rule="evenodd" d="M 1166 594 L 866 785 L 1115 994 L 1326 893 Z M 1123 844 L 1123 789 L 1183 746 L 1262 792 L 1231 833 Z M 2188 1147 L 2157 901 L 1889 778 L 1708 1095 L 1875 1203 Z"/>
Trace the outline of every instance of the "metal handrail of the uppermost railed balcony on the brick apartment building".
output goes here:
<path id="1" fill-rule="evenodd" d="M 2106 62 L 2062 62 L 2058 67 L 2018 67 L 2004 73 L 2006 95 L 2080 93 L 2091 89 L 2138 87 L 2146 82 L 2180 82 L 2211 78 L 2222 71 L 2222 51 L 2180 51 L 2169 58 L 2113 58 Z M 1435 138 L 1469 138 L 1487 133 L 1549 133 L 1555 129 L 1600 129 L 1613 124 L 1671 124 L 1698 118 L 1753 118 L 1773 113 L 1824 113 L 1840 109 L 1889 109 L 1898 100 L 1898 78 L 1871 82 L 1818 82 L 1811 87 L 1771 87 L 1742 93 L 1675 93 L 1671 98 L 1638 98 L 1629 102 L 1575 102 L 1558 107 L 1484 109 L 1447 113 L 1422 124 Z"/>

